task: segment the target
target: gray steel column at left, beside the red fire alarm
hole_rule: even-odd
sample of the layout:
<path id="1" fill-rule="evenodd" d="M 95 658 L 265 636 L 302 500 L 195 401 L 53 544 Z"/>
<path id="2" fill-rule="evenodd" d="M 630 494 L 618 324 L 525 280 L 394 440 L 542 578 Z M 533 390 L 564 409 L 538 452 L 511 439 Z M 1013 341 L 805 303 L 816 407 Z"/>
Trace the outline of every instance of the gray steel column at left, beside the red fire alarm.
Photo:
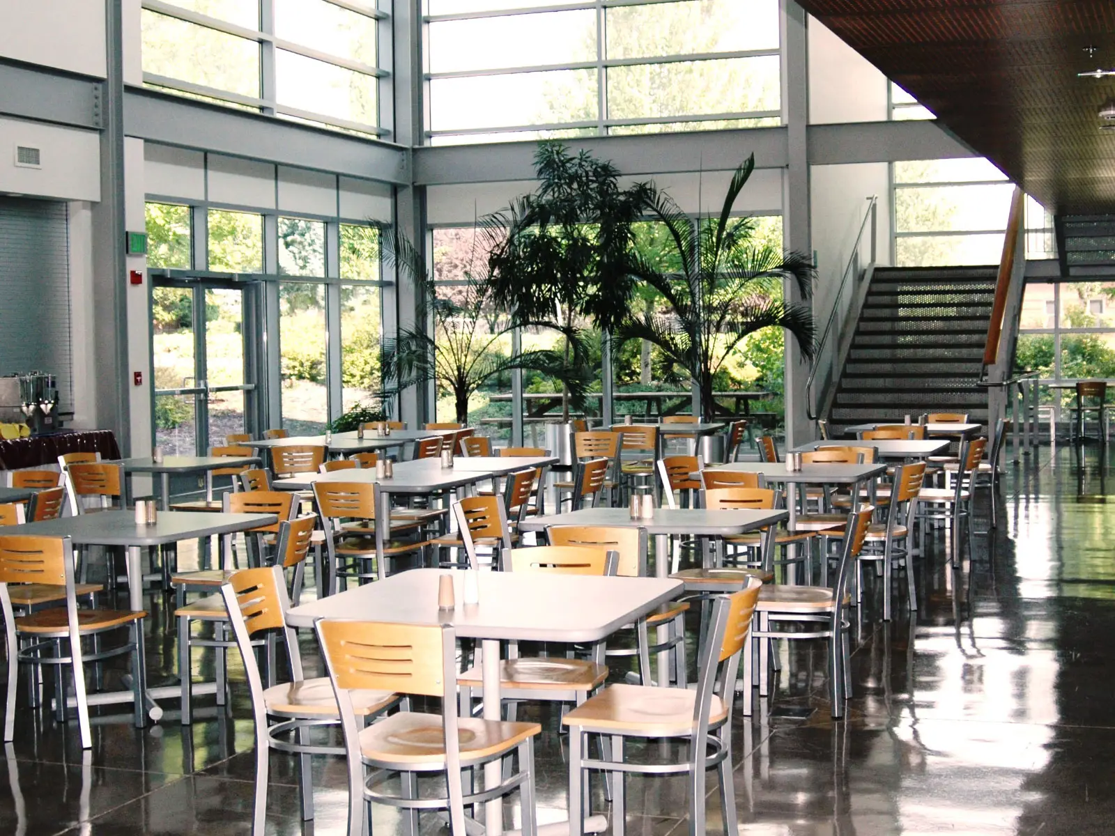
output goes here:
<path id="1" fill-rule="evenodd" d="M 93 300 L 98 328 L 97 422 L 116 434 L 120 451 L 130 449 L 130 408 L 126 308 L 127 262 L 124 255 L 124 46 L 122 0 L 105 3 L 107 78 L 100 135 L 100 201 L 93 204 Z"/>

